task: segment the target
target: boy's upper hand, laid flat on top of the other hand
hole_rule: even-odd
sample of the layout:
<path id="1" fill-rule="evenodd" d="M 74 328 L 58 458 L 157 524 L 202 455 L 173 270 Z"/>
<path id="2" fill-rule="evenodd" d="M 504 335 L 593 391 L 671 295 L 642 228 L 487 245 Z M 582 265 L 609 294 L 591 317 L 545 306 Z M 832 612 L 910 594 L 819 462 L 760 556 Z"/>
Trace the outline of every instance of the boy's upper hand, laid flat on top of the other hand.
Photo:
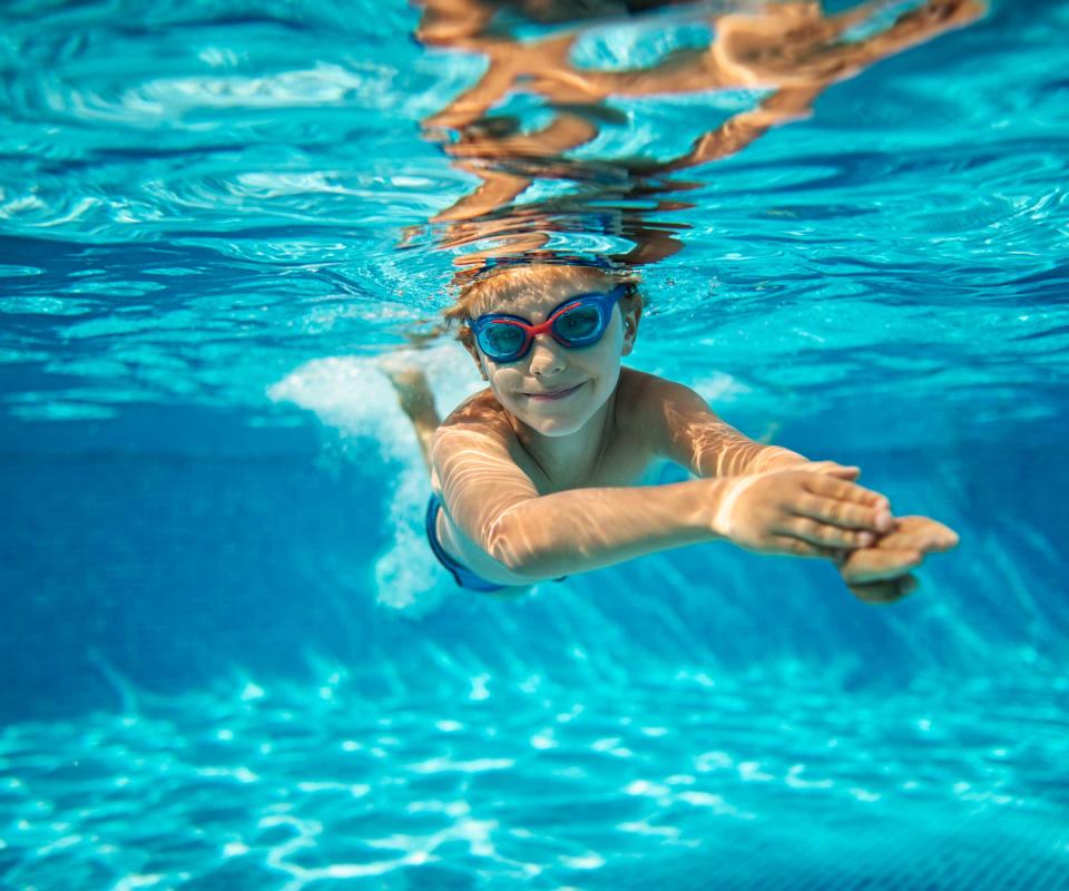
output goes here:
<path id="1" fill-rule="evenodd" d="M 733 480 L 713 531 L 757 554 L 831 557 L 894 528 L 887 499 L 851 482 L 861 471 L 831 461 Z"/>

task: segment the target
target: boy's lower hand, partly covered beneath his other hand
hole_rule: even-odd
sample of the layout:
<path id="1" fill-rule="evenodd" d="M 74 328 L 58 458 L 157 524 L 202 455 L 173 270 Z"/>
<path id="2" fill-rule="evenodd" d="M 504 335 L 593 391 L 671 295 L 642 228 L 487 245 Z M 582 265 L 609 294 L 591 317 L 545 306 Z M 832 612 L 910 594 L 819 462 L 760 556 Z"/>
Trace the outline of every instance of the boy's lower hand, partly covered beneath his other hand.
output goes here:
<path id="1" fill-rule="evenodd" d="M 929 517 L 896 517 L 895 529 L 867 548 L 842 551 L 838 572 L 854 596 L 867 604 L 891 604 L 916 590 L 910 574 L 928 554 L 958 545 L 958 535 Z"/>

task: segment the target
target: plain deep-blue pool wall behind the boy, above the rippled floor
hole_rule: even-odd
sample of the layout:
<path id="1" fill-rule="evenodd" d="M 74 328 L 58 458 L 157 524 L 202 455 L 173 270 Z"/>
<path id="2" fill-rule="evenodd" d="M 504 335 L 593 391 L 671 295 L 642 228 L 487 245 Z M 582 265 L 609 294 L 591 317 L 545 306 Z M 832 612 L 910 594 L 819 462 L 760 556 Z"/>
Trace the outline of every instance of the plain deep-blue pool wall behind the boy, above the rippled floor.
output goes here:
<path id="1" fill-rule="evenodd" d="M 136 708 L 138 697 L 341 670 L 367 696 L 530 676 L 801 674 L 842 688 L 1059 675 L 1069 655 L 1069 528 L 1049 422 L 881 450 L 872 405 L 794 422 L 777 441 L 857 463 L 900 513 L 961 545 L 892 607 L 856 601 L 823 561 L 716 542 L 542 585 L 523 600 L 450 589 L 379 601 L 390 487 L 411 467 L 307 412 L 130 408 L 107 421 L 8 424 L 0 490 L 0 718 Z M 666 477 L 665 479 L 670 479 Z M 678 478 L 681 478 L 678 477 Z"/>

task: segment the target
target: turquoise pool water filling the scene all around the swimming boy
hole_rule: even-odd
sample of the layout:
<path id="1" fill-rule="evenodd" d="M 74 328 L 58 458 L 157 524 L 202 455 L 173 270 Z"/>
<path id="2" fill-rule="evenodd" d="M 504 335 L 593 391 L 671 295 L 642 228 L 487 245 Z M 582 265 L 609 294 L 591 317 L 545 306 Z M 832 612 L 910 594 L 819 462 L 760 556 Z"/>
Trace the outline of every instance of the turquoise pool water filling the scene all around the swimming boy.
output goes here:
<path id="1" fill-rule="evenodd" d="M 498 30 L 573 31 L 577 77 L 728 9 L 522 6 Z M 993 3 L 677 172 L 774 90 L 521 79 L 464 133 L 433 116 L 487 59 L 420 19 L 0 10 L 0 888 L 1069 888 L 1069 6 Z M 506 145 L 558 119 L 596 135 Z M 529 182 L 459 219 L 480 170 Z M 889 608 L 723 545 L 457 590 L 375 361 L 442 413 L 478 390 L 434 320 L 530 233 L 666 248 L 628 364 L 959 548 Z"/>

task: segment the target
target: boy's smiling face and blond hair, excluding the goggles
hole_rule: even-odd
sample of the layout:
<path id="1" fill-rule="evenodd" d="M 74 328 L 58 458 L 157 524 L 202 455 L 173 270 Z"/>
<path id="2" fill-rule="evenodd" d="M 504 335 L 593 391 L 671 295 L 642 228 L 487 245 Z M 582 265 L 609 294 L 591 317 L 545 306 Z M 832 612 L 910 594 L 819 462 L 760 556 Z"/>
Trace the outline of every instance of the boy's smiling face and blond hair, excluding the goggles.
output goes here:
<path id="1" fill-rule="evenodd" d="M 497 276 L 473 315 L 508 313 L 539 324 L 569 297 L 605 293 L 616 284 L 583 266 L 523 267 Z M 478 345 L 469 352 L 504 409 L 543 435 L 562 437 L 580 430 L 612 394 L 620 359 L 631 352 L 640 315 L 640 307 L 617 303 L 605 334 L 589 346 L 565 346 L 547 332 L 537 335 L 527 355 L 516 362 L 497 363 Z M 553 399 L 539 398 L 568 389 Z"/>

